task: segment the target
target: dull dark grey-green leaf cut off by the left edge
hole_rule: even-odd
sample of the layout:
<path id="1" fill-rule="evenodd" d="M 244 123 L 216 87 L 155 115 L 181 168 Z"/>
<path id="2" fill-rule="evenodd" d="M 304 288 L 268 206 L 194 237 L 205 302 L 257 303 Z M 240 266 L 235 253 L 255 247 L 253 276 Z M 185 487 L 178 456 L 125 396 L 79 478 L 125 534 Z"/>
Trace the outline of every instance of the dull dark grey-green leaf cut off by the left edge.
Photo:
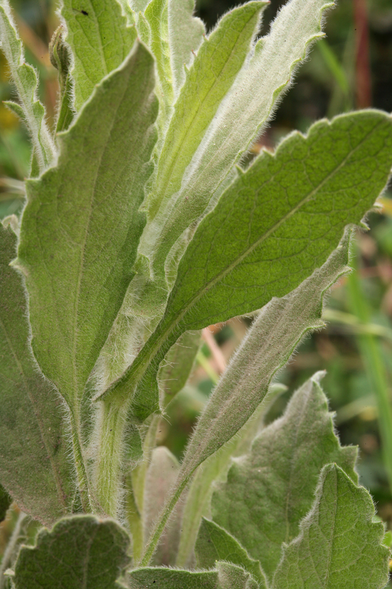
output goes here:
<path id="1" fill-rule="evenodd" d="M 65 515 L 74 492 L 66 412 L 32 358 L 25 292 L 9 266 L 11 226 L 0 223 L 0 242 L 0 482 L 20 509 L 50 524 Z"/>

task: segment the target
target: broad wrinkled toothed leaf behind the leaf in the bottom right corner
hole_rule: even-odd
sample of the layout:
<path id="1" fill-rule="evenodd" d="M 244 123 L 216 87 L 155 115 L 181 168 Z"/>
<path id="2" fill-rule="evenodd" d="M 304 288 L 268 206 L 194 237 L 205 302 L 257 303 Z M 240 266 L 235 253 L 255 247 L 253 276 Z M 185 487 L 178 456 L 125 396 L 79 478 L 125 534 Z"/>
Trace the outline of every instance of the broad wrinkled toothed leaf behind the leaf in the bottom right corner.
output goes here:
<path id="1" fill-rule="evenodd" d="M 261 562 L 271 580 L 282 544 L 299 533 L 322 467 L 335 462 L 357 482 L 357 448 L 341 448 L 316 374 L 292 396 L 283 417 L 263 429 L 249 455 L 232 463 L 212 499 L 213 520 Z"/>

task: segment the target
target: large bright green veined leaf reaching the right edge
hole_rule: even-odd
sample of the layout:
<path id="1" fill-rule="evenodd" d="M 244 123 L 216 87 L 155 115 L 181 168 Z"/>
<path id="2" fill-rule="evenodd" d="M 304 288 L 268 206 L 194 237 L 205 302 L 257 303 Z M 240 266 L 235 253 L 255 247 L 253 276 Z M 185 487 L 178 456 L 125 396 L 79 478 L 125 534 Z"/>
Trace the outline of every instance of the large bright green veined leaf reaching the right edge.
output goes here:
<path id="1" fill-rule="evenodd" d="M 391 117 L 379 111 L 322 120 L 239 172 L 196 229 L 165 315 L 112 393 L 129 394 L 129 382 L 143 376 L 136 414 L 158 411 L 156 373 L 179 334 L 250 313 L 320 267 L 345 225 L 360 223 L 384 188 L 391 130 Z"/>

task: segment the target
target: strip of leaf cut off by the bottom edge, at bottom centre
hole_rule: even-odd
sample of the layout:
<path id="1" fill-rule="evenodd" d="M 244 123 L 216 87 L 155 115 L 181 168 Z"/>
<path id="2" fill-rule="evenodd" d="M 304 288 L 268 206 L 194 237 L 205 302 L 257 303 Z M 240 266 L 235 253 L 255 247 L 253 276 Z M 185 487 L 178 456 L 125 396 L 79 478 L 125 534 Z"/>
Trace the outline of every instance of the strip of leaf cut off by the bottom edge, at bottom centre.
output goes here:
<path id="1" fill-rule="evenodd" d="M 129 573 L 129 589 L 219 589 L 217 571 L 181 571 L 146 566 Z M 237 589 L 237 588 L 232 588 Z"/>

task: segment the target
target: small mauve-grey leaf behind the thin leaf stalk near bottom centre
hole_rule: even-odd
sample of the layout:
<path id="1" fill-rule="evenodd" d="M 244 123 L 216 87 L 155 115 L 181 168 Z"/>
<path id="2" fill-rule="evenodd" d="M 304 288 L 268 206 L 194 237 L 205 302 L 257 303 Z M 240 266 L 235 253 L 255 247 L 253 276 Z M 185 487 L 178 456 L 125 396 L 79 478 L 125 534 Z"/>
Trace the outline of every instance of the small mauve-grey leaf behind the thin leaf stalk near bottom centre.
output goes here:
<path id="1" fill-rule="evenodd" d="M 145 477 L 144 491 L 144 537 L 148 538 L 153 525 L 165 504 L 167 494 L 177 479 L 179 462 L 165 446 L 153 450 L 150 466 Z M 181 531 L 181 505 L 178 505 L 170 522 L 162 533 L 152 564 L 172 566 L 175 564 Z"/>

